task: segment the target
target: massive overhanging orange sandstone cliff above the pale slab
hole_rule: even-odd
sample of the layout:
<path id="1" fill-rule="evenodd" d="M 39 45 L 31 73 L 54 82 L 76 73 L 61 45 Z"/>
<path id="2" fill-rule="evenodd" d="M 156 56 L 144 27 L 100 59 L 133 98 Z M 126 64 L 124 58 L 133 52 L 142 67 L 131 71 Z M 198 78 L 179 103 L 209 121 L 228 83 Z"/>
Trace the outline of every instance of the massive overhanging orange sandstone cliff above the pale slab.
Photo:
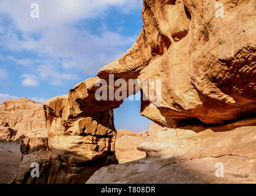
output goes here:
<path id="1" fill-rule="evenodd" d="M 222 3 L 223 18 L 217 18 L 214 1 L 145 0 L 137 42 L 98 77 L 161 78 L 161 105 L 143 101 L 142 115 L 168 127 L 254 113 L 255 1 Z"/>

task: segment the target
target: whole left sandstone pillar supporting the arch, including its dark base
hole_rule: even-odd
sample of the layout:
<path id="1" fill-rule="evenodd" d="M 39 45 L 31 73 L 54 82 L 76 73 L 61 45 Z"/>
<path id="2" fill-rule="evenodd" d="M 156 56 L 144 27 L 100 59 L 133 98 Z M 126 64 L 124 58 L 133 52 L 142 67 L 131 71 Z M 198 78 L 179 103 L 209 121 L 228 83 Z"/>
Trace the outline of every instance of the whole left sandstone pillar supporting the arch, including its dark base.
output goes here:
<path id="1" fill-rule="evenodd" d="M 15 183 L 86 183 L 99 168 L 118 163 L 113 110 L 88 112 L 94 107 L 89 94 L 86 84 L 80 83 L 70 94 L 45 103 L 47 138 L 23 140 Z M 33 163 L 39 166 L 38 178 L 30 175 Z"/>

